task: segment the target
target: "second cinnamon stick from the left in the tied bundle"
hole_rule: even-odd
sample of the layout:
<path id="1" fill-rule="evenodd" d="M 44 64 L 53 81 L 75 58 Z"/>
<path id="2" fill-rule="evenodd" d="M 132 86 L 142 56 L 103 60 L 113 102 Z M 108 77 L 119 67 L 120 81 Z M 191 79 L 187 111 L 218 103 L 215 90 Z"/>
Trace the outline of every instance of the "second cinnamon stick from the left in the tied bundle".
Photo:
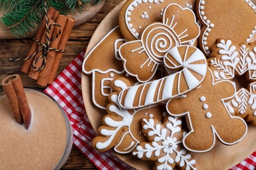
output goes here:
<path id="1" fill-rule="evenodd" d="M 54 21 L 53 20 L 49 20 L 49 25 L 51 24 L 54 24 Z M 54 27 L 52 27 L 50 30 L 49 30 L 49 38 L 51 39 L 52 35 L 53 35 L 53 30 L 54 30 Z M 45 43 L 47 41 L 47 30 L 45 30 L 45 32 L 43 33 L 43 36 L 41 38 L 41 43 Z M 38 46 L 38 49 L 40 48 L 43 48 L 42 46 Z M 35 58 L 33 59 L 33 61 L 35 61 L 35 59 L 39 58 L 41 55 L 43 54 L 43 50 L 39 51 L 36 55 L 35 55 Z M 43 58 L 39 59 L 37 61 L 37 63 L 35 63 L 35 67 L 36 68 L 39 68 L 41 67 L 43 63 Z M 28 75 L 37 80 L 38 76 L 39 76 L 39 71 L 35 71 L 33 69 L 33 67 L 30 68 L 30 72 L 28 73 Z"/>

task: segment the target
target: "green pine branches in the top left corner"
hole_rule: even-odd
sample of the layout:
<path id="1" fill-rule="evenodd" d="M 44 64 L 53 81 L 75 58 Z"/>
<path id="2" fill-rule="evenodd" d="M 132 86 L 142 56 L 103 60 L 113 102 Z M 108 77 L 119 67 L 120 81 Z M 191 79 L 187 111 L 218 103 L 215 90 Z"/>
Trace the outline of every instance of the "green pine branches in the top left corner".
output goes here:
<path id="1" fill-rule="evenodd" d="M 0 10 L 7 11 L 0 20 L 5 24 L 16 37 L 26 37 L 32 31 L 35 24 L 40 24 L 44 16 L 44 2 L 47 2 L 47 9 L 53 7 L 60 14 L 82 10 L 86 5 L 96 5 L 102 0 L 0 0 Z"/>

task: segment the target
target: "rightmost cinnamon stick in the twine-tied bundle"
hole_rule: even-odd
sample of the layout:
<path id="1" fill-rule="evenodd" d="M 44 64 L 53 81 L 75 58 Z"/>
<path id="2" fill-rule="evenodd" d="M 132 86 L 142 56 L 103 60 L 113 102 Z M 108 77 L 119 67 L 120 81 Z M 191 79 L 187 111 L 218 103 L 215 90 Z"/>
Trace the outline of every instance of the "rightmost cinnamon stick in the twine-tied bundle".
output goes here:
<path id="1" fill-rule="evenodd" d="M 72 32 L 72 29 L 74 27 L 75 19 L 68 15 L 68 20 L 66 22 L 66 25 L 64 27 L 62 37 L 60 39 L 60 44 L 58 44 L 58 49 L 62 50 L 66 48 L 66 45 L 68 44 L 68 39 L 70 37 L 70 34 Z M 53 67 L 51 69 L 51 74 L 48 79 L 48 84 L 51 84 L 55 78 L 55 75 L 58 71 L 58 65 L 60 65 L 60 60 L 63 56 L 63 52 L 57 52 L 54 62 L 53 62 Z"/>

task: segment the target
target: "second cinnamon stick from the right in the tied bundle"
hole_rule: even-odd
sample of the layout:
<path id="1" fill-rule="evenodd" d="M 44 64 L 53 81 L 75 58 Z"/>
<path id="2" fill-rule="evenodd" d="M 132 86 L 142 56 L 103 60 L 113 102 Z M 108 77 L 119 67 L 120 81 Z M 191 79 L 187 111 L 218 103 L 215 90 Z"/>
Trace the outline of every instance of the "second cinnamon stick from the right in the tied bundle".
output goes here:
<path id="1" fill-rule="evenodd" d="M 61 31 L 60 35 L 58 35 L 58 38 L 54 39 L 54 41 L 51 42 L 50 48 L 56 48 L 56 49 L 58 48 L 58 44 L 60 43 L 60 39 L 62 37 L 63 29 L 64 29 L 65 24 L 66 24 L 66 20 L 67 20 L 67 16 L 64 16 L 64 15 L 61 15 L 61 14 L 56 19 L 56 23 L 60 25 L 60 28 L 61 28 L 62 31 Z M 59 31 L 59 27 L 55 26 L 54 31 L 53 31 L 53 37 L 58 34 L 58 31 Z M 49 51 L 48 52 L 46 65 L 39 73 L 39 76 L 38 76 L 38 79 L 37 79 L 37 84 L 39 84 L 41 86 L 47 86 L 48 78 L 49 78 L 49 75 L 51 73 L 51 69 L 53 67 L 53 61 L 55 59 L 55 56 L 56 56 L 56 52 L 54 52 L 54 51 Z"/>

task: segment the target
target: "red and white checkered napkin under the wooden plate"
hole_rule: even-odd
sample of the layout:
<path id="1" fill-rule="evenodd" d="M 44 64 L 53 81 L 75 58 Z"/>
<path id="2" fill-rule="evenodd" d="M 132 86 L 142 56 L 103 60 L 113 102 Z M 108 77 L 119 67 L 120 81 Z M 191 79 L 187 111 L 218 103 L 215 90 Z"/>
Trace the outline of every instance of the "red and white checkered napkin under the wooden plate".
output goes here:
<path id="1" fill-rule="evenodd" d="M 60 73 L 45 90 L 65 110 L 70 118 L 74 133 L 74 144 L 98 169 L 133 169 L 119 160 L 112 152 L 98 152 L 91 146 L 96 133 L 93 130 L 83 105 L 81 93 L 81 71 L 85 49 Z M 244 161 L 232 167 L 233 170 L 255 169 L 256 151 Z"/>

